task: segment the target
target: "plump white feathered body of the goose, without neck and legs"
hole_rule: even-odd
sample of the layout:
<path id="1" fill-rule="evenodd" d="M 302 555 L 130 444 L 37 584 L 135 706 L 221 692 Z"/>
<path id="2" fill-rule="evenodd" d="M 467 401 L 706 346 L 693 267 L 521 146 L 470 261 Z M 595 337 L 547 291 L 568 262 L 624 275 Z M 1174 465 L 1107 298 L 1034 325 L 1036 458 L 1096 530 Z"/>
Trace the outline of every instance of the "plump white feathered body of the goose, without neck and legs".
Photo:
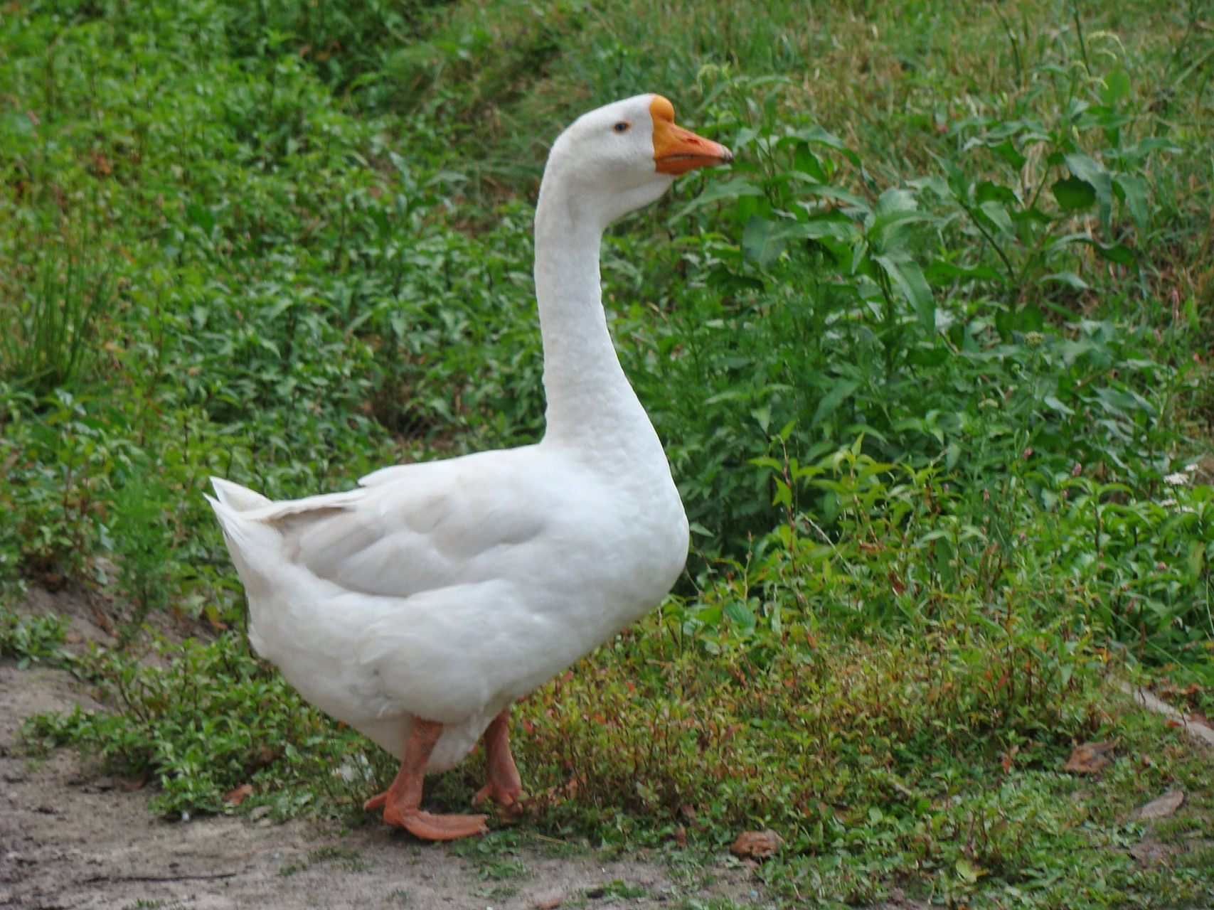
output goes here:
<path id="1" fill-rule="evenodd" d="M 236 499 L 227 487 L 216 511 L 257 653 L 398 758 L 402 721 L 442 722 L 430 772 L 660 601 L 687 553 L 679 494 L 653 451 L 619 470 L 545 439 L 246 511 L 222 505 Z"/>

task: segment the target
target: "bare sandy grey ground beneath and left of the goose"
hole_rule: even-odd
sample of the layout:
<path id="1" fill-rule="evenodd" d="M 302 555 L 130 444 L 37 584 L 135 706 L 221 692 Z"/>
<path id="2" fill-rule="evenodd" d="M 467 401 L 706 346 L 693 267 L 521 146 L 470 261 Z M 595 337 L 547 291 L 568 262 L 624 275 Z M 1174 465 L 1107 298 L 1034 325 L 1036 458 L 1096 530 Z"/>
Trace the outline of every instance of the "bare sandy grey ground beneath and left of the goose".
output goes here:
<path id="1" fill-rule="evenodd" d="M 35 591 L 33 612 L 73 616 L 69 642 L 104 641 L 87 602 Z M 476 864 L 447 846 L 414 840 L 385 825 L 341 835 L 307 819 L 274 824 L 248 817 L 166 821 L 147 809 L 148 790 L 125 792 L 92 760 L 72 750 L 32 758 L 16 741 L 32 713 L 96 707 L 58 670 L 18 670 L 0 660 L 0 908 L 51 910 L 290 910 L 294 908 L 435 908 L 520 910 L 563 906 L 685 906 L 686 898 L 767 902 L 745 868 L 680 874 L 660 857 L 602 861 L 594 852 L 572 858 L 544 848 L 514 857 L 526 871 L 480 877 Z M 611 882 L 643 897 L 622 899 Z M 728 903 L 725 904 L 728 906 Z"/>

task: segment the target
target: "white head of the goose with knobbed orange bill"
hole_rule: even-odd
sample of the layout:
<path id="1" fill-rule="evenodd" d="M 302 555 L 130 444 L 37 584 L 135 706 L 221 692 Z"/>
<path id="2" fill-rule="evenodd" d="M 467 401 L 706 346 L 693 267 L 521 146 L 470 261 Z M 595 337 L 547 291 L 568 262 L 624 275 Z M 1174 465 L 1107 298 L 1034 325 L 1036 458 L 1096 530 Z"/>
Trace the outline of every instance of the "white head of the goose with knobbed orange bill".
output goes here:
<path id="1" fill-rule="evenodd" d="M 558 183 L 575 215 L 605 228 L 656 200 L 676 176 L 732 160 L 725 146 L 676 126 L 664 97 L 637 95 L 583 114 L 562 132 L 544 184 Z"/>

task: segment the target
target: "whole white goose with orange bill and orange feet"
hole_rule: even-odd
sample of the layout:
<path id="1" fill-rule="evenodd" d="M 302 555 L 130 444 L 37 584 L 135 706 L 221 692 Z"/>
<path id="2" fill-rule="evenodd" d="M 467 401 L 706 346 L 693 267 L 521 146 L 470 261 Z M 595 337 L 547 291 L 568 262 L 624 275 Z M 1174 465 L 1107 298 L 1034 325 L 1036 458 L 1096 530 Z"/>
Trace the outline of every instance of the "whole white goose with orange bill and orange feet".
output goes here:
<path id="1" fill-rule="evenodd" d="M 535 209 L 548 432 L 537 445 L 399 465 L 359 488 L 272 502 L 214 478 L 249 598 L 249 638 L 300 694 L 402 760 L 367 802 L 419 837 L 483 832 L 484 815 L 420 809 L 425 772 L 484 736 L 504 807 L 522 792 L 510 706 L 654 607 L 687 556 L 662 444 L 612 346 L 603 229 L 722 146 L 640 95 L 552 144 Z"/>

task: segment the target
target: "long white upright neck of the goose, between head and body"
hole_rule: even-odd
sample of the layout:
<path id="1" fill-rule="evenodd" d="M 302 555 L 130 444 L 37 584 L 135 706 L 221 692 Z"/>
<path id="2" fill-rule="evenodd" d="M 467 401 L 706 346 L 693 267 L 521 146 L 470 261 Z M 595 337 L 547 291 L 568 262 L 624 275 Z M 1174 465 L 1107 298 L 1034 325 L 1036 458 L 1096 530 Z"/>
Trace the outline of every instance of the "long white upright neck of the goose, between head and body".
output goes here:
<path id="1" fill-rule="evenodd" d="M 535 209 L 535 297 L 544 339 L 545 439 L 589 454 L 662 453 L 607 331 L 599 279 L 602 214 L 577 182 L 545 174 Z M 629 455 L 625 455 L 629 456 Z M 664 462 L 664 457 L 663 457 Z"/>

